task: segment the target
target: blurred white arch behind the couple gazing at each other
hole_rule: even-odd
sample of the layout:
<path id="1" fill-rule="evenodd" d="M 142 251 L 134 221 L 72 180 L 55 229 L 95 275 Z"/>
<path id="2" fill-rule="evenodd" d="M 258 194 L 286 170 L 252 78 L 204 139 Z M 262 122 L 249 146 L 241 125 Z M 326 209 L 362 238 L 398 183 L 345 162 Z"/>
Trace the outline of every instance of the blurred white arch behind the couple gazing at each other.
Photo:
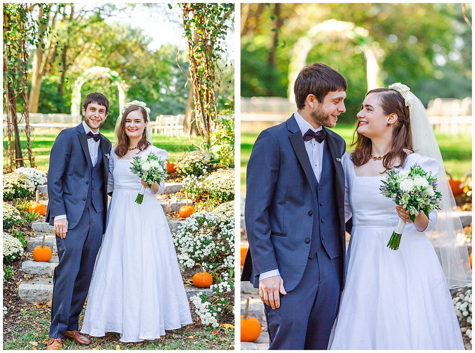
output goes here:
<path id="1" fill-rule="evenodd" d="M 364 46 L 366 59 L 366 80 L 368 90 L 381 87 L 379 79 L 379 67 L 373 53 L 369 32 L 365 28 L 356 27 L 352 22 L 343 22 L 329 19 L 310 28 L 294 45 L 289 64 L 288 96 L 295 103 L 294 82 L 300 70 L 307 65 L 307 56 L 310 50 L 319 43 L 335 40 L 353 40 Z"/>

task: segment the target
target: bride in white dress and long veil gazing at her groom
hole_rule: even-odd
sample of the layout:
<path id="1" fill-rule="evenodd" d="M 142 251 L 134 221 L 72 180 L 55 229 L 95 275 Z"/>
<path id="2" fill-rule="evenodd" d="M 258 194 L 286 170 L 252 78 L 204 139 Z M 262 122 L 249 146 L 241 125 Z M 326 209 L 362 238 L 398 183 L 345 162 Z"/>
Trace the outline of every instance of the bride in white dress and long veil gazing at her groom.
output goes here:
<path id="1" fill-rule="evenodd" d="M 353 218 L 346 281 L 330 349 L 464 349 L 449 288 L 471 282 L 465 236 L 424 106 L 409 87 L 367 93 L 356 148 L 343 156 L 345 218 Z M 433 157 L 433 158 L 430 158 Z M 437 175 L 439 212 L 409 215 L 380 193 L 388 169 Z M 387 247 L 398 217 L 399 250 Z"/>

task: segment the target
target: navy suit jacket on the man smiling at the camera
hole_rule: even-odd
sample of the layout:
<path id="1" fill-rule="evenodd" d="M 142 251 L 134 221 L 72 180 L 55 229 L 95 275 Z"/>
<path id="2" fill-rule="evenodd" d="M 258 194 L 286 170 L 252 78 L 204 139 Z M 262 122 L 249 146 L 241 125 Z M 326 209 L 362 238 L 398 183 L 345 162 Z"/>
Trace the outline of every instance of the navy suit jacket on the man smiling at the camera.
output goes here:
<path id="1" fill-rule="evenodd" d="M 104 205 L 107 205 L 107 179 L 111 141 L 100 135 L 104 163 Z M 46 222 L 54 224 L 54 217 L 66 214 L 68 229 L 76 227 L 85 207 L 87 190 L 91 185 L 91 156 L 83 124 L 61 130 L 49 155 L 48 208 Z M 104 231 L 107 212 L 104 212 Z"/>

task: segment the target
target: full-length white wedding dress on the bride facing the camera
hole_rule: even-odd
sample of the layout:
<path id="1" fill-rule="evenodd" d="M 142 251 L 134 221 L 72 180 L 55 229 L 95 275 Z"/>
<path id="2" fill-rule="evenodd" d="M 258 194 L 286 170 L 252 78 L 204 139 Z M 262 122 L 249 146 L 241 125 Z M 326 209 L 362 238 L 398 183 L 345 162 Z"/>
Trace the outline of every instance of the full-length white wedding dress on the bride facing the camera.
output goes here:
<path id="1" fill-rule="evenodd" d="M 168 158 L 154 146 L 148 153 Z M 142 184 L 131 166 L 112 152 L 108 191 L 114 193 L 81 330 L 98 337 L 117 332 L 122 342 L 157 339 L 192 323 L 165 214 L 148 188 L 142 204 L 135 203 Z"/>

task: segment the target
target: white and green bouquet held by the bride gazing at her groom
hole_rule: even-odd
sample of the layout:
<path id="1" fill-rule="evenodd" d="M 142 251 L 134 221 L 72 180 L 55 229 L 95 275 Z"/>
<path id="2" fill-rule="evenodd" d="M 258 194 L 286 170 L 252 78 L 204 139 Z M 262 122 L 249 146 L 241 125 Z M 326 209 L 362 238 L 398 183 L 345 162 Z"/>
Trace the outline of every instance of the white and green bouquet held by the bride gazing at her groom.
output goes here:
<path id="1" fill-rule="evenodd" d="M 442 194 L 437 191 L 437 177 L 432 176 L 432 172 L 426 173 L 416 164 L 410 170 L 389 170 L 386 174 L 386 181 L 381 180 L 384 184 L 380 187 L 381 194 L 408 210 L 412 222 L 420 212 L 429 217 L 433 210 L 440 210 Z M 392 250 L 399 249 L 405 225 L 406 222 L 399 218 L 387 245 Z"/>

